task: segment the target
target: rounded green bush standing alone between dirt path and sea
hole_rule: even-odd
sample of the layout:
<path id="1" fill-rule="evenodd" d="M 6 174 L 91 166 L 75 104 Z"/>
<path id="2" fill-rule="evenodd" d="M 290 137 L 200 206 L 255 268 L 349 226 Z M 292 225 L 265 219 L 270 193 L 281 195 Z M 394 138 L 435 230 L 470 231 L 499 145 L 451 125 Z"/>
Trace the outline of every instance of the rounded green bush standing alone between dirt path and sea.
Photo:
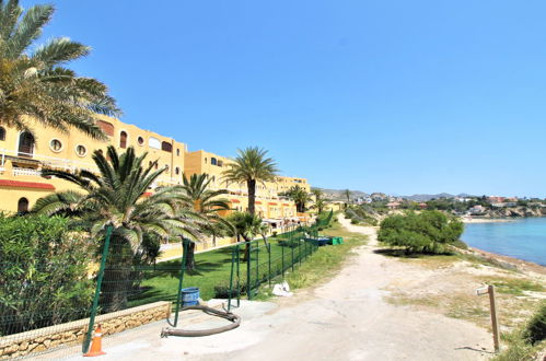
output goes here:
<path id="1" fill-rule="evenodd" d="M 391 216 L 381 222 L 377 240 L 407 253 L 446 253 L 463 233 L 463 223 L 440 211 L 408 212 Z"/>

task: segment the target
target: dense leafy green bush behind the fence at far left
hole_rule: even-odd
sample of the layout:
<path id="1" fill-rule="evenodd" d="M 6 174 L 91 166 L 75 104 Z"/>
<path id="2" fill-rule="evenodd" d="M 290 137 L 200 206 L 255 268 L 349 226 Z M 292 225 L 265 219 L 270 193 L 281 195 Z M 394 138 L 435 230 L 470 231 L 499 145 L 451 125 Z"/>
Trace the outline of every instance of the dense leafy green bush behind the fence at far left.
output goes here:
<path id="1" fill-rule="evenodd" d="M 86 316 L 90 244 L 60 217 L 0 214 L 0 336 Z"/>

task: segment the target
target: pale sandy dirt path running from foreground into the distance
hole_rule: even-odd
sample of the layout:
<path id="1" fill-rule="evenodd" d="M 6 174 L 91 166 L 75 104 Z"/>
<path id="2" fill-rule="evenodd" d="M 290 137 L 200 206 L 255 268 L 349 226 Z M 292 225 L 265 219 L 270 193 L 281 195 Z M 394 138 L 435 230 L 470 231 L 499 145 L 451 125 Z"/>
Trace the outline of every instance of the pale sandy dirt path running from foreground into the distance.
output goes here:
<path id="1" fill-rule="evenodd" d="M 411 282 L 427 270 L 373 251 L 376 231 L 339 221 L 368 234 L 368 245 L 330 281 L 281 300 L 260 314 L 243 315 L 240 328 L 205 338 L 148 340 L 107 350 L 105 360 L 484 360 L 491 337 L 476 325 L 438 313 L 396 306 L 384 289 Z M 137 346 L 138 343 L 138 346 Z M 133 346 L 131 346 L 133 345 Z M 486 350 L 486 351 L 484 351 Z"/>

